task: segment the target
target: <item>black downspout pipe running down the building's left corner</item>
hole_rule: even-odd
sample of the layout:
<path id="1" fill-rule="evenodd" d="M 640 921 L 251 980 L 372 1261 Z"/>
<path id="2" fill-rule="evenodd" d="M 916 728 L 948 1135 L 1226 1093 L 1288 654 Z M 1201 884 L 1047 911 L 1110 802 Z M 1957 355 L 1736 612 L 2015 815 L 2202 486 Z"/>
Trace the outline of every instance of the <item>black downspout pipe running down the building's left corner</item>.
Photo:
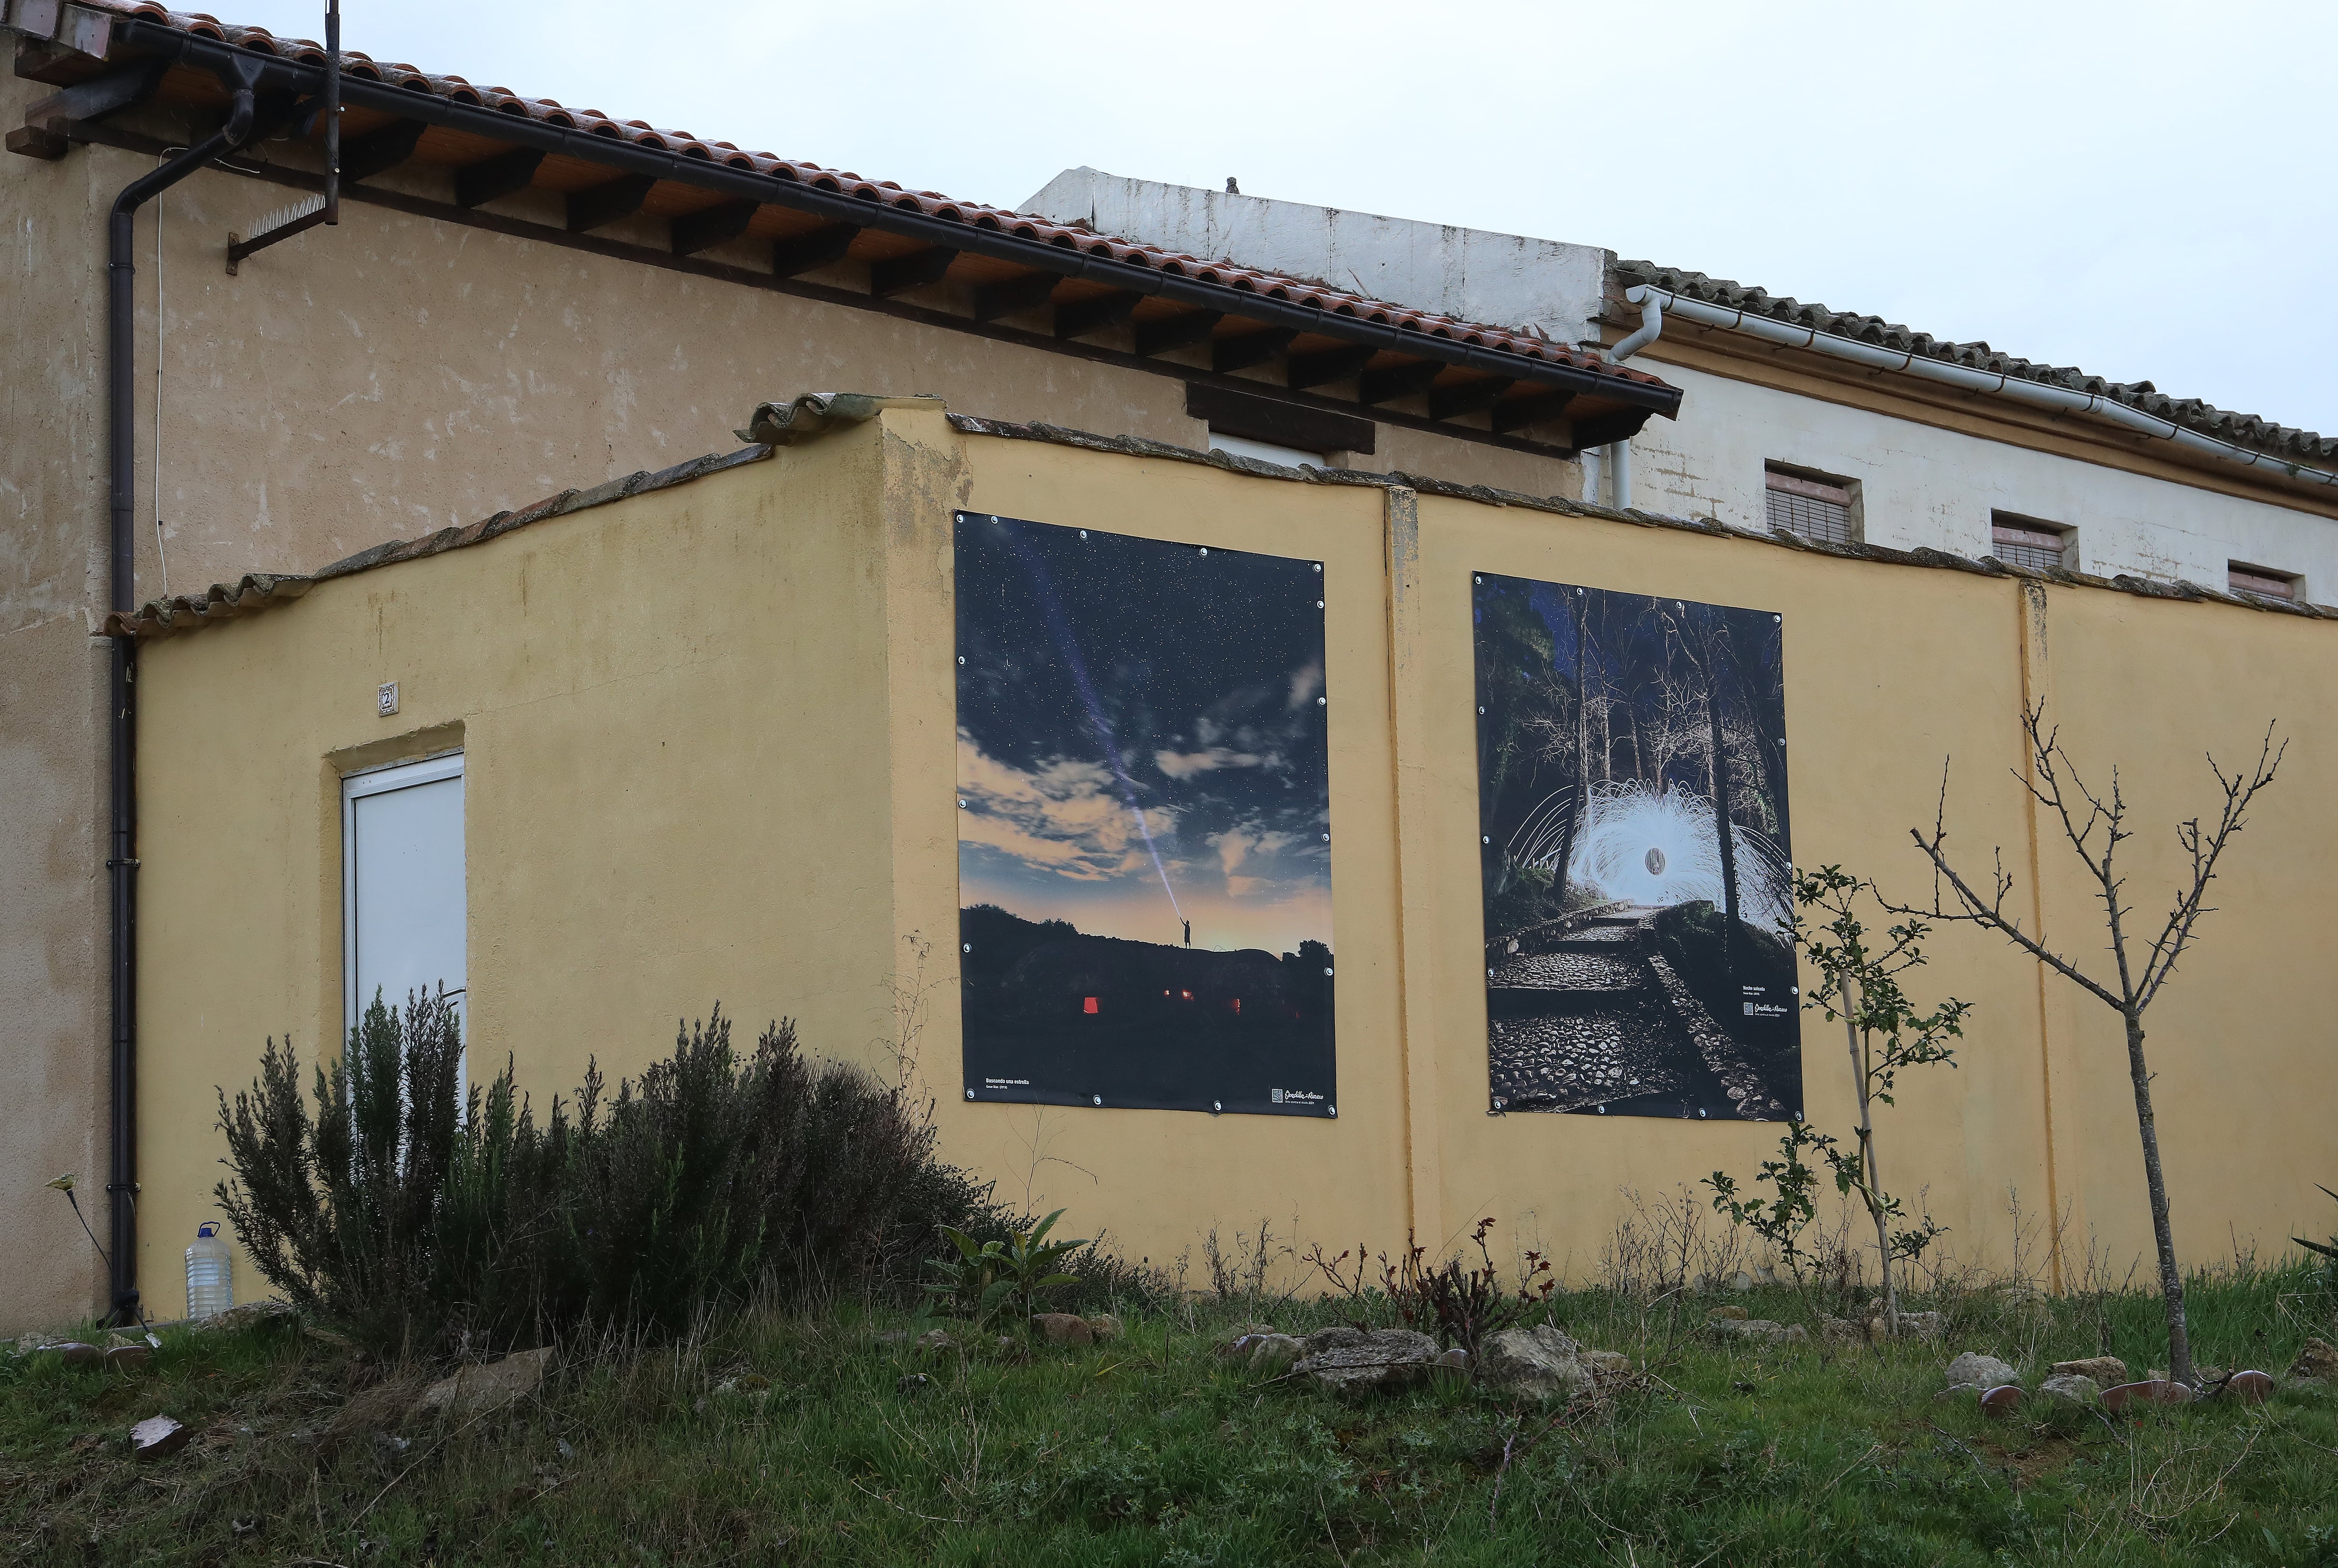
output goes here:
<path id="1" fill-rule="evenodd" d="M 105 220 L 105 416 L 110 439 L 110 598 L 112 608 L 138 608 L 138 425 L 131 407 L 138 369 L 138 341 L 131 334 L 131 229 L 138 208 L 171 189 L 196 168 L 234 152 L 253 133 L 255 98 L 250 84 L 234 91 L 234 107 L 215 136 L 178 154 L 161 168 L 131 180 L 115 196 Z M 108 900 L 112 904 L 112 1175 L 105 1194 L 112 1201 L 112 1306 L 115 1323 L 138 1323 L 138 643 L 112 638 L 112 832 L 105 855 Z"/>

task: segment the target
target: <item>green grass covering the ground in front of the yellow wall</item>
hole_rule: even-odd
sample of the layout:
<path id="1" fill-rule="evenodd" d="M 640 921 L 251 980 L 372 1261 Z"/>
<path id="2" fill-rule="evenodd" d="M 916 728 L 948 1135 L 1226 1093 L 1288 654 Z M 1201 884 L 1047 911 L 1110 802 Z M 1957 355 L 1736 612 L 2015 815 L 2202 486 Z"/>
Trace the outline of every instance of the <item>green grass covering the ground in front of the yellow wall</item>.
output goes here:
<path id="1" fill-rule="evenodd" d="M 2200 1360 L 2287 1369 L 2298 1271 L 2195 1285 Z M 1784 1292 L 1742 1297 L 1798 1318 Z M 1924 1304 L 1924 1302 L 1915 1302 Z M 489 1418 L 397 1416 L 428 1369 L 299 1332 L 166 1334 L 143 1374 L 0 1362 L 0 1549 L 33 1563 L 2338 1563 L 2338 1395 L 2111 1421 L 1936 1400 L 1959 1348 L 2029 1381 L 2158 1365 L 2158 1304 L 1945 1306 L 1950 1344 L 1725 1351 L 1672 1311 L 1562 1297 L 1646 1376 L 1604 1404 L 1445 1386 L 1335 1400 L 1211 1351 L 1330 1304 L 1132 1311 L 1094 1348 L 926 1355 L 909 1320 L 755 1313 L 570 1353 Z M 758 1374 L 767 1390 L 720 1390 Z M 924 1376 L 924 1383 L 914 1379 Z M 206 1432 L 159 1463 L 126 1430 Z M 400 1449 L 397 1444 L 404 1442 Z M 1503 1453 L 1508 1449 L 1508 1465 Z M 1496 1503 L 1499 1484 L 1499 1503 Z"/>

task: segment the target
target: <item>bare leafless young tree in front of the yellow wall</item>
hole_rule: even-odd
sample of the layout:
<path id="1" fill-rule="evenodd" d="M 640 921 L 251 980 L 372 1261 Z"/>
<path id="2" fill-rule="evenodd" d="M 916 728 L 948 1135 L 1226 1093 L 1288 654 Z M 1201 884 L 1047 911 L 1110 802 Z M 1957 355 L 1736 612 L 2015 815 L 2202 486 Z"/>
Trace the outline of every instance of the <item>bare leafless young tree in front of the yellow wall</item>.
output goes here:
<path id="1" fill-rule="evenodd" d="M 2004 851 L 1997 853 L 1994 890 L 1983 895 L 1973 883 L 1950 865 L 1948 858 L 1948 769 L 1941 769 L 1941 806 L 1934 816 L 1931 834 L 1910 827 L 1908 837 L 1915 839 L 1924 858 L 1931 860 L 1934 869 L 1934 897 L 1931 909 L 1908 909 L 1898 904 L 1884 904 L 1891 914 L 1901 916 L 1927 916 L 1934 921 L 1959 921 L 1966 925 L 1980 925 L 2004 935 L 2013 946 L 2022 949 L 2048 970 L 2071 981 L 2104 1007 L 2111 1007 L 2128 1031 L 2128 1077 L 2135 1080 L 2135 1124 L 2144 1136 L 2144 1185 L 2151 1189 L 2151 1236 L 2160 1255 L 2160 1297 L 2167 1309 L 2167 1376 L 2179 1383 L 2198 1383 L 2191 1360 L 2191 1332 L 2184 1323 L 2184 1274 L 2177 1267 L 2177 1243 L 2174 1229 L 2167 1217 L 2167 1175 L 2160 1168 L 2160 1133 L 2158 1122 L 2151 1110 L 2151 1068 L 2144 1061 L 2144 1010 L 2158 998 L 2160 986 L 2174 974 L 2177 960 L 2184 949 L 2191 946 L 2193 935 L 2200 928 L 2200 918 L 2214 914 L 2205 902 L 2207 886 L 2216 879 L 2216 862 L 2223 858 L 2226 846 L 2240 834 L 2249 804 L 2256 792 L 2273 783 L 2273 773 L 2282 764 L 2282 755 L 2289 743 L 2282 741 L 2280 748 L 2273 745 L 2273 724 L 2266 727 L 2266 741 L 2259 748 L 2256 766 L 2235 769 L 2226 773 L 2216 764 L 2216 757 L 2207 759 L 2209 771 L 2216 776 L 2216 788 L 2223 792 L 2223 804 L 2216 813 L 2212 827 L 2202 827 L 2202 818 L 2188 818 L 2177 827 L 2177 844 L 2191 860 L 2188 886 L 2177 888 L 2174 904 L 2167 911 L 2167 921 L 2160 925 L 2158 935 L 2151 937 L 2149 946 L 2139 946 L 2139 932 L 2128 930 L 2128 916 L 2135 911 L 2132 904 L 2123 902 L 2125 874 L 2116 865 L 2118 846 L 2135 837 L 2128 827 L 2128 802 L 2118 790 L 2118 769 L 2111 769 L 2109 797 L 2097 795 L 2085 778 L 2081 778 L 2069 752 L 2062 750 L 2060 727 L 2046 727 L 2046 703 L 2022 713 L 2022 734 L 2029 741 L 2029 766 L 2032 778 L 2022 780 L 2022 788 L 2046 806 L 2062 823 L 2062 837 L 2078 853 L 2085 865 L 2088 879 L 2095 883 L 2095 895 L 2102 897 L 2104 918 L 2111 935 L 2111 960 L 2118 970 L 2116 986 L 2097 981 L 2085 970 L 2081 970 L 2071 958 L 2046 946 L 2041 935 L 2025 932 L 2020 918 L 2006 914 L 2006 895 L 2013 890 L 2013 876 L 2006 872 Z M 1941 883 L 1955 893 L 1955 900 L 1943 900 Z"/>

